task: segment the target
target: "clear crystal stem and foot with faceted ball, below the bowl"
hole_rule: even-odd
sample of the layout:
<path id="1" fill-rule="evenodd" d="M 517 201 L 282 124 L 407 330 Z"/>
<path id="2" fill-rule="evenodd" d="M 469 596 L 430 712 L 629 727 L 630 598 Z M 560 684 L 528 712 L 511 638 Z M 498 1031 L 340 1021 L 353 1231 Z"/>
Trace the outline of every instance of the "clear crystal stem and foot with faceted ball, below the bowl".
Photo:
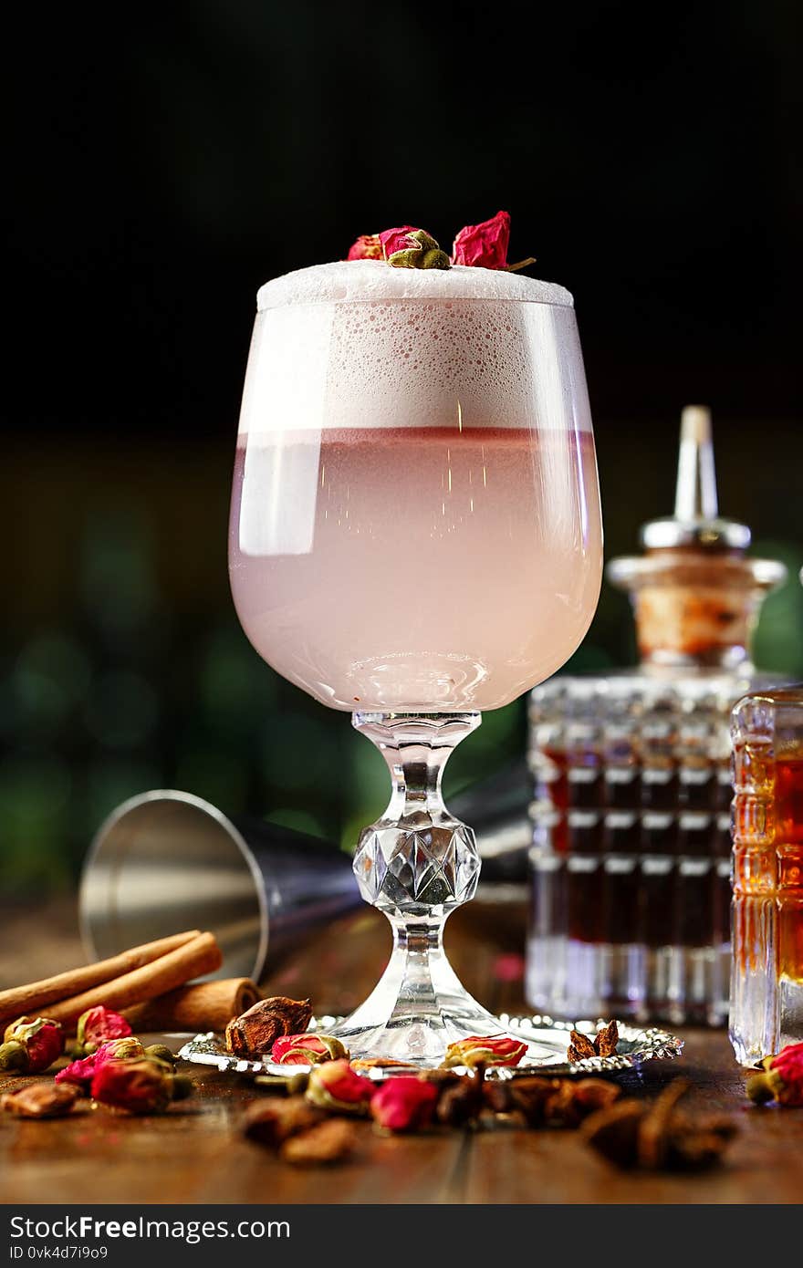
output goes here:
<path id="1" fill-rule="evenodd" d="M 363 898 L 391 922 L 393 950 L 372 994 L 336 1030 L 353 1056 L 436 1065 L 457 1040 L 504 1032 L 443 948 L 447 917 L 474 896 L 480 855 L 472 829 L 447 810 L 440 781 L 480 721 L 478 713 L 353 715 L 393 781 L 387 810 L 362 832 L 354 856 Z"/>

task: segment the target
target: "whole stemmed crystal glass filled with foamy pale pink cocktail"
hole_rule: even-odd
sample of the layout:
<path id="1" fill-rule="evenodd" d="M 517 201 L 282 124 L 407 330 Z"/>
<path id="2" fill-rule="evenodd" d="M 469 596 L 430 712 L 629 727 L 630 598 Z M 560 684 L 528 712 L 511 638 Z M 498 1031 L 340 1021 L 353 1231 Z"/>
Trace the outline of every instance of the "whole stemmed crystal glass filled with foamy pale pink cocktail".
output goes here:
<path id="1" fill-rule="evenodd" d="M 337 1035 L 353 1056 L 433 1065 L 457 1040 L 500 1033 L 443 950 L 480 858 L 440 779 L 482 710 L 559 668 L 596 606 L 601 519 L 571 297 L 377 260 L 263 287 L 230 568 L 256 650 L 350 711 L 391 772 L 354 870 L 393 951 Z"/>

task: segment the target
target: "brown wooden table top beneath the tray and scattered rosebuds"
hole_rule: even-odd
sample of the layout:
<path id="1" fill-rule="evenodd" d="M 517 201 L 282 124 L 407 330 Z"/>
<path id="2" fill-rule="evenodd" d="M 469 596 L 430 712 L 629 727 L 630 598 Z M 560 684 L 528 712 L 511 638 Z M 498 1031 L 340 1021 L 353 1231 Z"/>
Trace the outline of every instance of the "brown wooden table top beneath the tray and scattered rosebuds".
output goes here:
<path id="1" fill-rule="evenodd" d="M 5 913 L 0 923 L 1 985 L 82 959 L 70 908 L 39 913 L 36 946 L 30 914 Z M 27 940 L 20 938 L 23 929 Z M 471 904 L 453 917 L 447 943 L 469 990 L 496 1009 L 521 1007 L 520 909 Z M 373 985 L 388 945 L 384 919 L 365 909 L 311 940 L 274 969 L 265 987 L 270 993 L 311 994 L 318 1011 L 343 1012 Z M 197 1096 L 164 1116 L 132 1118 L 89 1108 L 51 1122 L 4 1116 L 0 1201 L 800 1202 L 803 1110 L 751 1107 L 724 1032 L 681 1027 L 679 1033 L 686 1041 L 682 1060 L 647 1063 L 641 1075 L 628 1073 L 620 1082 L 625 1094 L 652 1097 L 682 1073 L 693 1083 L 691 1106 L 736 1116 L 741 1130 L 726 1164 L 700 1175 L 618 1172 L 571 1131 L 438 1129 L 388 1137 L 369 1122 L 359 1123 L 354 1160 L 297 1169 L 238 1135 L 238 1116 L 254 1097 L 245 1080 L 192 1066 Z M 13 1083 L 4 1079 L 0 1090 Z"/>

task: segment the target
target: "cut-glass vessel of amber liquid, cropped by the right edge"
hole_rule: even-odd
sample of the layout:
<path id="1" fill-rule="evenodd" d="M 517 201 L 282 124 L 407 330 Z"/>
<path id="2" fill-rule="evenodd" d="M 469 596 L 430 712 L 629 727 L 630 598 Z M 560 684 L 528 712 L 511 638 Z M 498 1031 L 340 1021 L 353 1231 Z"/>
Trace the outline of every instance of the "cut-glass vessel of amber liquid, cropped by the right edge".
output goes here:
<path id="1" fill-rule="evenodd" d="M 754 1065 L 803 1040 L 803 686 L 745 696 L 731 739 L 731 1042 Z"/>

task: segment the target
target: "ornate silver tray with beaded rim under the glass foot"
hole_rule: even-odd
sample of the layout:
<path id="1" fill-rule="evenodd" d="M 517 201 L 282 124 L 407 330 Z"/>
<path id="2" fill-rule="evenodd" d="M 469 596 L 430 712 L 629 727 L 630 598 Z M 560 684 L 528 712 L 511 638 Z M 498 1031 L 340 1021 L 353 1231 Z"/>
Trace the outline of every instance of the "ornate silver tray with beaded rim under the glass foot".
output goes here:
<path id="1" fill-rule="evenodd" d="M 341 1017 L 313 1017 L 308 1028 L 311 1032 L 317 1031 L 326 1035 L 340 1021 L 343 1021 Z M 539 1071 L 562 1075 L 610 1074 L 617 1070 L 638 1069 L 644 1061 L 672 1060 L 682 1055 L 684 1041 L 676 1035 L 670 1035 L 669 1031 L 656 1027 L 642 1030 L 638 1026 L 620 1022 L 619 1051 L 615 1056 L 590 1056 L 584 1061 L 567 1061 L 568 1032 L 578 1030 L 592 1038 L 603 1022 L 558 1022 L 552 1017 L 511 1017 L 507 1013 L 501 1013 L 500 1021 L 507 1033 L 520 1036 L 537 1045 L 537 1055 L 526 1058 L 521 1065 L 512 1069 L 510 1066 L 490 1066 L 486 1078 L 511 1079 L 516 1075 L 533 1075 Z M 179 1051 L 179 1056 L 195 1065 L 213 1065 L 223 1074 L 280 1074 L 288 1078 L 291 1074 L 299 1074 L 310 1069 L 307 1065 L 275 1065 L 269 1060 L 252 1061 L 232 1056 L 231 1052 L 226 1051 L 222 1037 L 213 1031 L 207 1035 L 195 1035 Z M 372 1069 L 365 1073 L 372 1079 L 386 1079 L 407 1071 L 414 1073 L 406 1066 Z M 458 1066 L 457 1073 L 466 1073 L 466 1070 L 463 1066 Z"/>

